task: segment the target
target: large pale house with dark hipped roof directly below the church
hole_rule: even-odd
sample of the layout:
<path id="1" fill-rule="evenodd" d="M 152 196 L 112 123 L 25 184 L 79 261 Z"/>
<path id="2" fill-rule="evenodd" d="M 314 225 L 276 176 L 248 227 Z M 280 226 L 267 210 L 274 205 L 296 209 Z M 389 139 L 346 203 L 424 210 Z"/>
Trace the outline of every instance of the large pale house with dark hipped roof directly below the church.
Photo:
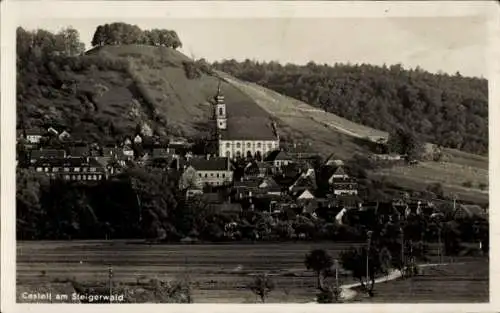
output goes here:
<path id="1" fill-rule="evenodd" d="M 233 170 L 228 158 L 191 158 L 188 162 L 184 175 L 192 175 L 194 170 L 196 175 L 196 185 L 198 188 L 209 186 L 228 185 L 233 180 Z"/>

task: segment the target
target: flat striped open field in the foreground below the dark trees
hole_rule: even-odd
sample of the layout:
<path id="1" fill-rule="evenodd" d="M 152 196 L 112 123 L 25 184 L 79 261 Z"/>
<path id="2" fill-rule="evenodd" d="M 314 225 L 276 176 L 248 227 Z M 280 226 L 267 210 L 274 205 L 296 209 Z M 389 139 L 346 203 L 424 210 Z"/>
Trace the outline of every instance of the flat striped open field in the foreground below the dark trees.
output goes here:
<path id="1" fill-rule="evenodd" d="M 149 246 L 125 241 L 18 242 L 17 291 L 19 297 L 21 292 L 34 290 L 65 290 L 68 284 L 57 281 L 68 278 L 86 284 L 105 282 L 111 264 L 114 281 L 120 283 L 154 277 L 165 280 L 188 277 L 195 302 L 255 302 L 255 296 L 246 286 L 252 275 L 259 272 L 272 275 L 276 284 L 268 302 L 310 302 L 317 293 L 316 279 L 304 266 L 305 254 L 313 248 L 323 248 L 336 257 L 349 246 L 349 243 Z M 477 259 L 461 257 L 455 262 Z M 343 272 L 340 280 L 341 284 L 354 282 Z M 443 297 L 436 301 L 447 300 Z M 386 301 L 391 300 L 386 298 Z"/>

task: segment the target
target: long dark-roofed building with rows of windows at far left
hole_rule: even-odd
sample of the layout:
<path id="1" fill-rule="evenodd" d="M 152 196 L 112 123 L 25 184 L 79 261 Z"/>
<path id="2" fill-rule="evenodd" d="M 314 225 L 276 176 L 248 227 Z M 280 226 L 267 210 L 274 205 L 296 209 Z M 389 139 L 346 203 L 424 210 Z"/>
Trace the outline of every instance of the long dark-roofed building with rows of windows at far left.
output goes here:
<path id="1" fill-rule="evenodd" d="M 106 178 L 104 167 L 93 158 L 40 159 L 31 165 L 37 173 L 68 181 L 98 181 Z"/>

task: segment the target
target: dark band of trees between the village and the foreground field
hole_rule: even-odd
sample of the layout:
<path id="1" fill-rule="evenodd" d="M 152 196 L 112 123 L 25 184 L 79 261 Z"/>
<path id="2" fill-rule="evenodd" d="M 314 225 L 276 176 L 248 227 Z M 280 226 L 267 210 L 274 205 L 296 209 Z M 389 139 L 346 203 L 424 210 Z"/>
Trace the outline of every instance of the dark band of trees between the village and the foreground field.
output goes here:
<path id="1" fill-rule="evenodd" d="M 272 217 L 266 213 L 269 203 L 259 199 L 252 202 L 254 210 L 242 202 L 240 213 L 221 212 L 203 199 L 186 199 L 185 192 L 179 190 L 182 181 L 178 172 L 152 167 L 132 167 L 95 184 L 49 180 L 43 174 L 18 168 L 16 182 L 20 240 L 142 238 L 177 242 L 189 236 L 209 242 L 293 241 L 299 237 L 357 241 L 363 240 L 367 228 L 382 233 L 402 227 L 408 234 L 416 234 L 412 235 L 415 241 L 437 242 L 439 225 L 452 234 L 449 243 L 487 235 L 472 230 L 478 220 L 457 221 L 452 216 L 440 224 L 416 216 L 404 225 L 393 225 L 367 211 L 347 215 L 345 223 L 338 225 L 332 209 L 320 207 L 316 216 L 302 213 L 302 208 L 290 208 Z"/>

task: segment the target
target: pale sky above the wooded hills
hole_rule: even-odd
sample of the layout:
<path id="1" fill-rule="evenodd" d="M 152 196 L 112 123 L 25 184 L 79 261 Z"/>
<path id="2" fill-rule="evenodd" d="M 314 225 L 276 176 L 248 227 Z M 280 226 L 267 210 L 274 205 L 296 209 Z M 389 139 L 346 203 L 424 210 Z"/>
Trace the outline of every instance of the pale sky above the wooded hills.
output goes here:
<path id="1" fill-rule="evenodd" d="M 175 30 L 188 56 L 280 63 L 401 63 L 430 72 L 487 77 L 487 23 L 480 16 L 385 18 L 21 19 L 19 26 L 72 26 L 90 48 L 96 27 L 125 22 Z"/>

